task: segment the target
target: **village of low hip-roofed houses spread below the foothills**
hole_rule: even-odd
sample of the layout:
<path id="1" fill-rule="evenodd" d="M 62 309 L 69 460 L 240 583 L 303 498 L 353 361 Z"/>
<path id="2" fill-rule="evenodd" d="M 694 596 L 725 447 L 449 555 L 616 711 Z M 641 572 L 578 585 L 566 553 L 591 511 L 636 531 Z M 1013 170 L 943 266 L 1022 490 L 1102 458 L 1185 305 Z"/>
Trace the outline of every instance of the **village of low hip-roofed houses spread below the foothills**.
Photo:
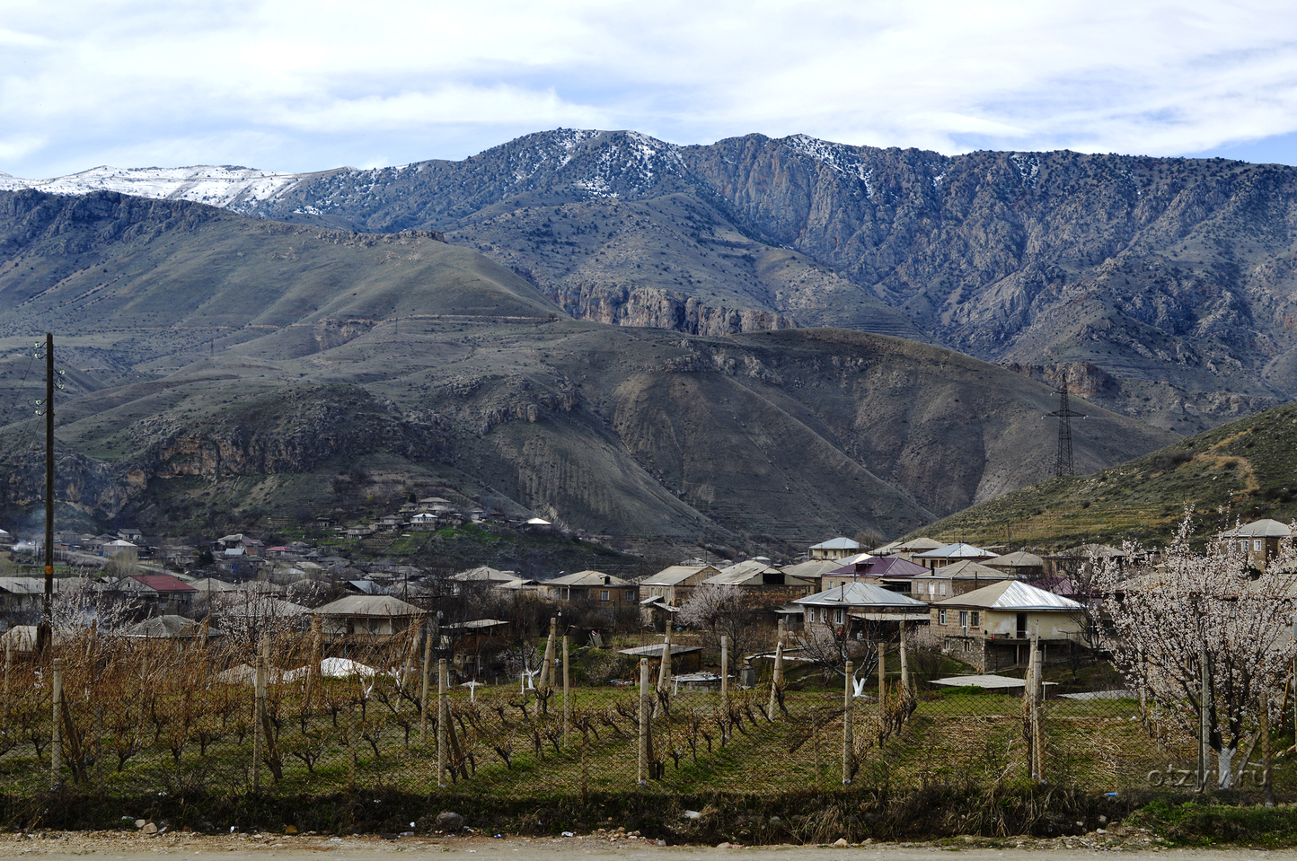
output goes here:
<path id="1" fill-rule="evenodd" d="M 459 511 L 428 498 L 372 525 L 335 532 L 354 539 L 488 517 L 481 508 Z M 538 517 L 518 525 L 553 528 Z M 1278 521 L 1258 520 L 1218 539 L 1262 572 L 1291 534 Z M 43 552 L 39 539 L 4 533 L 0 541 L 19 565 Z M 54 542 L 56 559 L 69 567 L 69 576 L 53 581 L 64 628 L 95 624 L 104 633 L 178 643 L 223 633 L 254 642 L 265 633 L 314 628 L 345 651 L 357 638 L 372 642 L 431 625 L 440 651 L 453 659 L 451 672 L 473 681 L 516 674 L 518 666 L 506 669 L 506 646 L 540 635 L 551 617 L 582 641 L 616 638 L 641 648 L 674 634 L 677 643 L 695 643 L 693 651 L 704 643 L 715 651 L 717 631 L 728 630 L 732 647 L 751 646 L 751 654 L 735 655 L 743 664 L 769 657 L 763 647 L 776 629 L 787 634 L 794 660 L 800 648 L 805 660 L 830 664 L 826 651 L 843 659 L 852 644 L 895 643 L 908 631 L 912 642 L 983 682 L 986 674 L 1021 677 L 1032 639 L 1052 661 L 1095 647 L 1096 622 L 1087 612 L 1096 598 L 1093 568 L 1126 561 L 1106 545 L 1038 555 L 922 537 L 864 547 L 835 537 L 787 563 L 689 559 L 634 580 L 599 571 L 538 580 L 485 565 L 446 573 L 392 559 L 359 561 L 327 545 L 267 546 L 245 533 L 182 545 L 121 529 L 56 533 Z M 35 650 L 44 593 L 43 577 L 0 577 L 0 648 Z"/>

